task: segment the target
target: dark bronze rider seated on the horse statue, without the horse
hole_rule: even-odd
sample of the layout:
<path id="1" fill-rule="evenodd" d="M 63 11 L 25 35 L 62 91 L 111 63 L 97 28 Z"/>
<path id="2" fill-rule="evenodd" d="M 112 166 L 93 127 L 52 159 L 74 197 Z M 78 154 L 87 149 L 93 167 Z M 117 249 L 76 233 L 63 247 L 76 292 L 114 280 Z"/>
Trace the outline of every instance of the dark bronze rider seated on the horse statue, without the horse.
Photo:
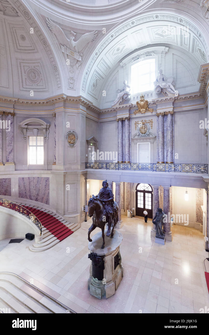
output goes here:
<path id="1" fill-rule="evenodd" d="M 104 207 L 105 211 L 104 215 L 106 216 L 106 219 L 108 221 L 108 229 L 107 229 L 107 234 L 106 236 L 110 236 L 110 227 L 111 227 L 111 221 L 109 219 L 109 216 L 113 217 L 114 220 L 115 218 L 115 208 L 114 208 L 114 195 L 112 193 L 111 188 L 108 187 L 108 182 L 107 180 L 104 180 L 102 182 L 102 188 L 99 191 L 99 198 L 104 202 Z"/>

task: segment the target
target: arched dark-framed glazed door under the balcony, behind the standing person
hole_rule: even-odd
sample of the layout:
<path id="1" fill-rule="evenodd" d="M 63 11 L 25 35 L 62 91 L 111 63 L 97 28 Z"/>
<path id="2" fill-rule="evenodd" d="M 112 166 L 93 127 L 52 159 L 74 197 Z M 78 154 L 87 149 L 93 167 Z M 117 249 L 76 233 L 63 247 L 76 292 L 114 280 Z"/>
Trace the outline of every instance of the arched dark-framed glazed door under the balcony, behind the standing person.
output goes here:
<path id="1" fill-rule="evenodd" d="M 152 218 L 152 187 L 141 183 L 136 187 L 136 215 L 144 216 L 145 209 L 148 217 Z"/>

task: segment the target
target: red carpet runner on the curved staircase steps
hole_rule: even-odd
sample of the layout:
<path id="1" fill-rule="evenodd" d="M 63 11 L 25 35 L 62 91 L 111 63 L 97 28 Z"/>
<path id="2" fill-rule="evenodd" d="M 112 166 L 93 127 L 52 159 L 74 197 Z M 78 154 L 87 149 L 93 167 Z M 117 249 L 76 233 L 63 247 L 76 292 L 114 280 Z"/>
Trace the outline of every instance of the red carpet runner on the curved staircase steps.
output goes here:
<path id="1" fill-rule="evenodd" d="M 54 216 L 33 207 L 24 207 L 36 215 L 42 226 L 49 230 L 58 240 L 62 241 L 73 233 L 72 230 L 66 227 L 65 224 L 57 220 Z"/>

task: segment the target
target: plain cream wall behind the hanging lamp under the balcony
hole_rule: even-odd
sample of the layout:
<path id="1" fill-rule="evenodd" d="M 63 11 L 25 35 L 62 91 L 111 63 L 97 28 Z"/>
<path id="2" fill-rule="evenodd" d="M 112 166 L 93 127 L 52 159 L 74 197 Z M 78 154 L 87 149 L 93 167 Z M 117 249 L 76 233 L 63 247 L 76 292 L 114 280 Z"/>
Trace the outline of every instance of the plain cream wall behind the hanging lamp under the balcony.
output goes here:
<path id="1" fill-rule="evenodd" d="M 186 227 L 195 227 L 196 222 L 196 189 L 187 188 L 189 201 L 186 201 L 184 196 L 186 187 L 172 186 L 172 214 L 189 214 L 189 224 Z M 176 224 L 184 225 L 178 222 Z"/>

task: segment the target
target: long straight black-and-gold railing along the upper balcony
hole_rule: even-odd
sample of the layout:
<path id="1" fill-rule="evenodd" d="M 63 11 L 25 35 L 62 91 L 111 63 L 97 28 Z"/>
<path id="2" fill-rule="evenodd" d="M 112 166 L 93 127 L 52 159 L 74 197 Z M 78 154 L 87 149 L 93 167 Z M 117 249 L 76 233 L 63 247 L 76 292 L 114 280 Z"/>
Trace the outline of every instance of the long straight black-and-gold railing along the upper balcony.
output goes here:
<path id="1" fill-rule="evenodd" d="M 86 169 L 105 170 L 132 170 L 148 172 L 186 172 L 186 173 L 208 173 L 207 164 L 191 163 L 114 163 L 114 162 L 86 162 Z"/>

